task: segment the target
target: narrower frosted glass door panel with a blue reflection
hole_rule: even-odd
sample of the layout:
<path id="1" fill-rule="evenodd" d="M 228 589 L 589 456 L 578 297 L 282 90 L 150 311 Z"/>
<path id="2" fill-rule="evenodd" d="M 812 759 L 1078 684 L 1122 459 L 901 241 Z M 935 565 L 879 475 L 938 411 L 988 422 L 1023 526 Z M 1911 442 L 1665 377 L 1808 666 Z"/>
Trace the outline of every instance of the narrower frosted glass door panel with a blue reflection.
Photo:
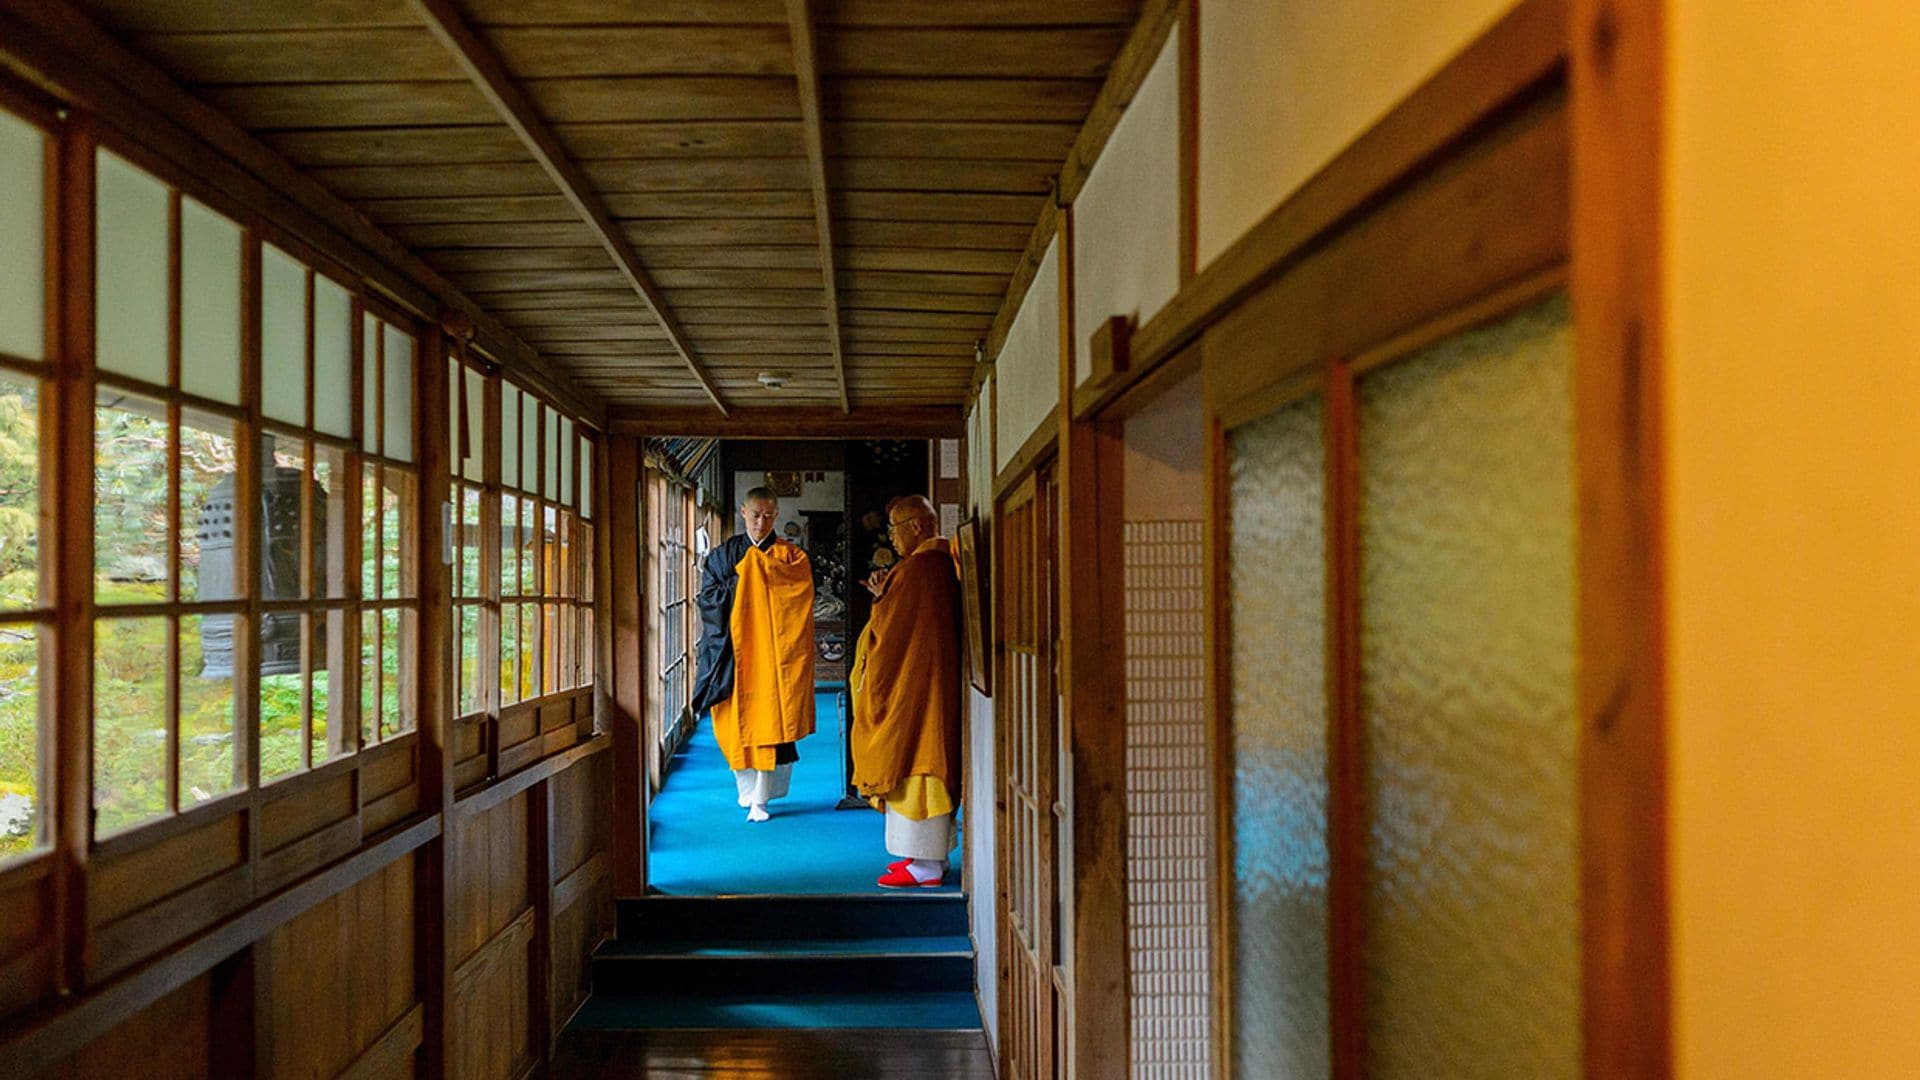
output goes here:
<path id="1" fill-rule="evenodd" d="M 1327 1076 L 1327 455 L 1309 398 L 1227 442 L 1233 1074 Z"/>

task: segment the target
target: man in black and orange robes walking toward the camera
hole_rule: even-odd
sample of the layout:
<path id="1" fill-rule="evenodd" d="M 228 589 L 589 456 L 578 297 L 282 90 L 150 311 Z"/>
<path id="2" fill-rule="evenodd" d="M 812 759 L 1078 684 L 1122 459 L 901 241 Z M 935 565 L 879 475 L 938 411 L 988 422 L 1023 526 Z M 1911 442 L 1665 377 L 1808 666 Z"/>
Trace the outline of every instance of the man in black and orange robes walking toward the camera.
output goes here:
<path id="1" fill-rule="evenodd" d="M 733 769 L 747 821 L 787 794 L 795 746 L 814 734 L 814 571 L 806 552 L 774 536 L 780 500 L 753 488 L 745 532 L 701 563 L 701 648 L 693 711 L 712 709 L 714 740 Z"/>

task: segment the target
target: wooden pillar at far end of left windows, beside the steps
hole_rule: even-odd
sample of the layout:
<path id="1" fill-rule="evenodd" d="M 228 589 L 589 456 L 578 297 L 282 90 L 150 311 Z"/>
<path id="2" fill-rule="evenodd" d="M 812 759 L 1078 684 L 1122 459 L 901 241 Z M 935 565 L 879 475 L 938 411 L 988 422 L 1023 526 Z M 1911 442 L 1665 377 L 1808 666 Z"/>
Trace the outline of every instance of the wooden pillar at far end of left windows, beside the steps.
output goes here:
<path id="1" fill-rule="evenodd" d="M 605 532 L 612 613 L 612 867 L 614 896 L 647 892 L 647 682 L 641 621 L 639 440 L 607 438 Z"/>

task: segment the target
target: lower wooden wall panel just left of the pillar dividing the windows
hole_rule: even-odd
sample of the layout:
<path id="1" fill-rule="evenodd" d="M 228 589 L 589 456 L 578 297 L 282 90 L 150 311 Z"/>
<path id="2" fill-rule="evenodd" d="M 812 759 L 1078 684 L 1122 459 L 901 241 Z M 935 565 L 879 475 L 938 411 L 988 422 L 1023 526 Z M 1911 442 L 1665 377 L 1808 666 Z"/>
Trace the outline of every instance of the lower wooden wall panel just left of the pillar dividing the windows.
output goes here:
<path id="1" fill-rule="evenodd" d="M 417 1003 L 413 855 L 255 945 L 261 1076 L 334 1076 Z"/>

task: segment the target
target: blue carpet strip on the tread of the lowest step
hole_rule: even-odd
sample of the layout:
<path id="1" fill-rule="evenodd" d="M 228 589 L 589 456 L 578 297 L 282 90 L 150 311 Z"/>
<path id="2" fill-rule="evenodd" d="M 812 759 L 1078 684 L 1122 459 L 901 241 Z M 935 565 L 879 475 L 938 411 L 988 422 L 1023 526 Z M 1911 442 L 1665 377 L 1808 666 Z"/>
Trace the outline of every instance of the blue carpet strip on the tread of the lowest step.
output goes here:
<path id="1" fill-rule="evenodd" d="M 728 997 L 603 995 L 586 999 L 568 1030 L 653 1028 L 920 1028 L 975 1030 L 979 1007 L 952 994 L 762 994 Z"/>

